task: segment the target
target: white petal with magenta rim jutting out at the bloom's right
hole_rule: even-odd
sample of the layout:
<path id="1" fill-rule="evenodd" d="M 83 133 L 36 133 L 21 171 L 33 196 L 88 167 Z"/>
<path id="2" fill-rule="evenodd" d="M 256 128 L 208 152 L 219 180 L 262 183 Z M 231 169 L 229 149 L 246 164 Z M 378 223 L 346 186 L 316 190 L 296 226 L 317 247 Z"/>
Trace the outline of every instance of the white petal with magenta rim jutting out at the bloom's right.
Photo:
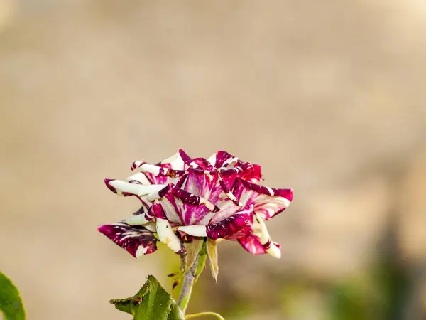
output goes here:
<path id="1" fill-rule="evenodd" d="M 292 189 L 276 189 L 237 179 L 234 195 L 244 206 L 254 205 L 254 212 L 269 220 L 285 210 L 293 199 Z"/>

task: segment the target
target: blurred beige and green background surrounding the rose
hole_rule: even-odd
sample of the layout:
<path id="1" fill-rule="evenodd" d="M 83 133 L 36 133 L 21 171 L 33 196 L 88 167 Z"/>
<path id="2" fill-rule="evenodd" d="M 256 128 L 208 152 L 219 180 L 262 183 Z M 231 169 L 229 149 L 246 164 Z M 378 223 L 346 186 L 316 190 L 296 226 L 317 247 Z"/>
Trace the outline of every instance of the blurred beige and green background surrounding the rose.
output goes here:
<path id="1" fill-rule="evenodd" d="M 190 311 L 426 319 L 425 31 L 419 0 L 0 0 L 0 270 L 28 319 L 129 319 L 108 300 L 169 283 L 177 257 L 97 225 L 138 206 L 103 178 L 178 148 L 295 190 L 283 258 L 221 242 Z"/>

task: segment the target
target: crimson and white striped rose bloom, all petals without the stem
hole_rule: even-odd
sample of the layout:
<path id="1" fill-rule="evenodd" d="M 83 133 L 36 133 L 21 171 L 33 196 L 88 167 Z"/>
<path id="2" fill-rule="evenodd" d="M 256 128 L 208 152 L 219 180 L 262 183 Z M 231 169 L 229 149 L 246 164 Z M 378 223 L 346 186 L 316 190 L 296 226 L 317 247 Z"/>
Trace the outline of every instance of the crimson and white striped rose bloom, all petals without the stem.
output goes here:
<path id="1" fill-rule="evenodd" d="M 141 208 L 99 231 L 134 257 L 157 250 L 157 241 L 183 255 L 192 237 L 236 240 L 253 255 L 280 257 L 265 221 L 288 207 L 293 191 L 258 184 L 261 166 L 226 151 L 192 159 L 179 150 L 158 164 L 136 161 L 131 170 L 139 172 L 105 183 L 120 196 L 138 198 Z"/>

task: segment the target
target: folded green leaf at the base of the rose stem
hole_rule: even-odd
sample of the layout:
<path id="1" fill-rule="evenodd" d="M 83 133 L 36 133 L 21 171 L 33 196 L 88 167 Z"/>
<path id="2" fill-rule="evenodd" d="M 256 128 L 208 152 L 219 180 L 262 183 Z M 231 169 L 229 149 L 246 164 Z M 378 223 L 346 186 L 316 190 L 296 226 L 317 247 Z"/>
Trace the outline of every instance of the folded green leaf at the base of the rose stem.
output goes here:
<path id="1" fill-rule="evenodd" d="M 155 277 L 148 276 L 143 287 L 133 297 L 110 301 L 116 309 L 134 316 L 134 320 L 182 320 L 185 317 L 175 300 L 161 287 Z"/>

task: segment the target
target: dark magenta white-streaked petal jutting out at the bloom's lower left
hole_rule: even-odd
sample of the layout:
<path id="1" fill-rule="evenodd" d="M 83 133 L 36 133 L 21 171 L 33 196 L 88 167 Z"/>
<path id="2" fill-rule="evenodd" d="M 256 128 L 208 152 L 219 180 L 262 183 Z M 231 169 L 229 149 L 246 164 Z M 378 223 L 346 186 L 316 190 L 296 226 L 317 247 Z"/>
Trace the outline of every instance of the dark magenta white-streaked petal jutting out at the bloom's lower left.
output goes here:
<path id="1" fill-rule="evenodd" d="M 151 231 L 140 225 L 128 225 L 120 222 L 112 225 L 100 225 L 98 230 L 126 249 L 133 257 L 148 255 L 157 250 L 157 238 Z"/>

